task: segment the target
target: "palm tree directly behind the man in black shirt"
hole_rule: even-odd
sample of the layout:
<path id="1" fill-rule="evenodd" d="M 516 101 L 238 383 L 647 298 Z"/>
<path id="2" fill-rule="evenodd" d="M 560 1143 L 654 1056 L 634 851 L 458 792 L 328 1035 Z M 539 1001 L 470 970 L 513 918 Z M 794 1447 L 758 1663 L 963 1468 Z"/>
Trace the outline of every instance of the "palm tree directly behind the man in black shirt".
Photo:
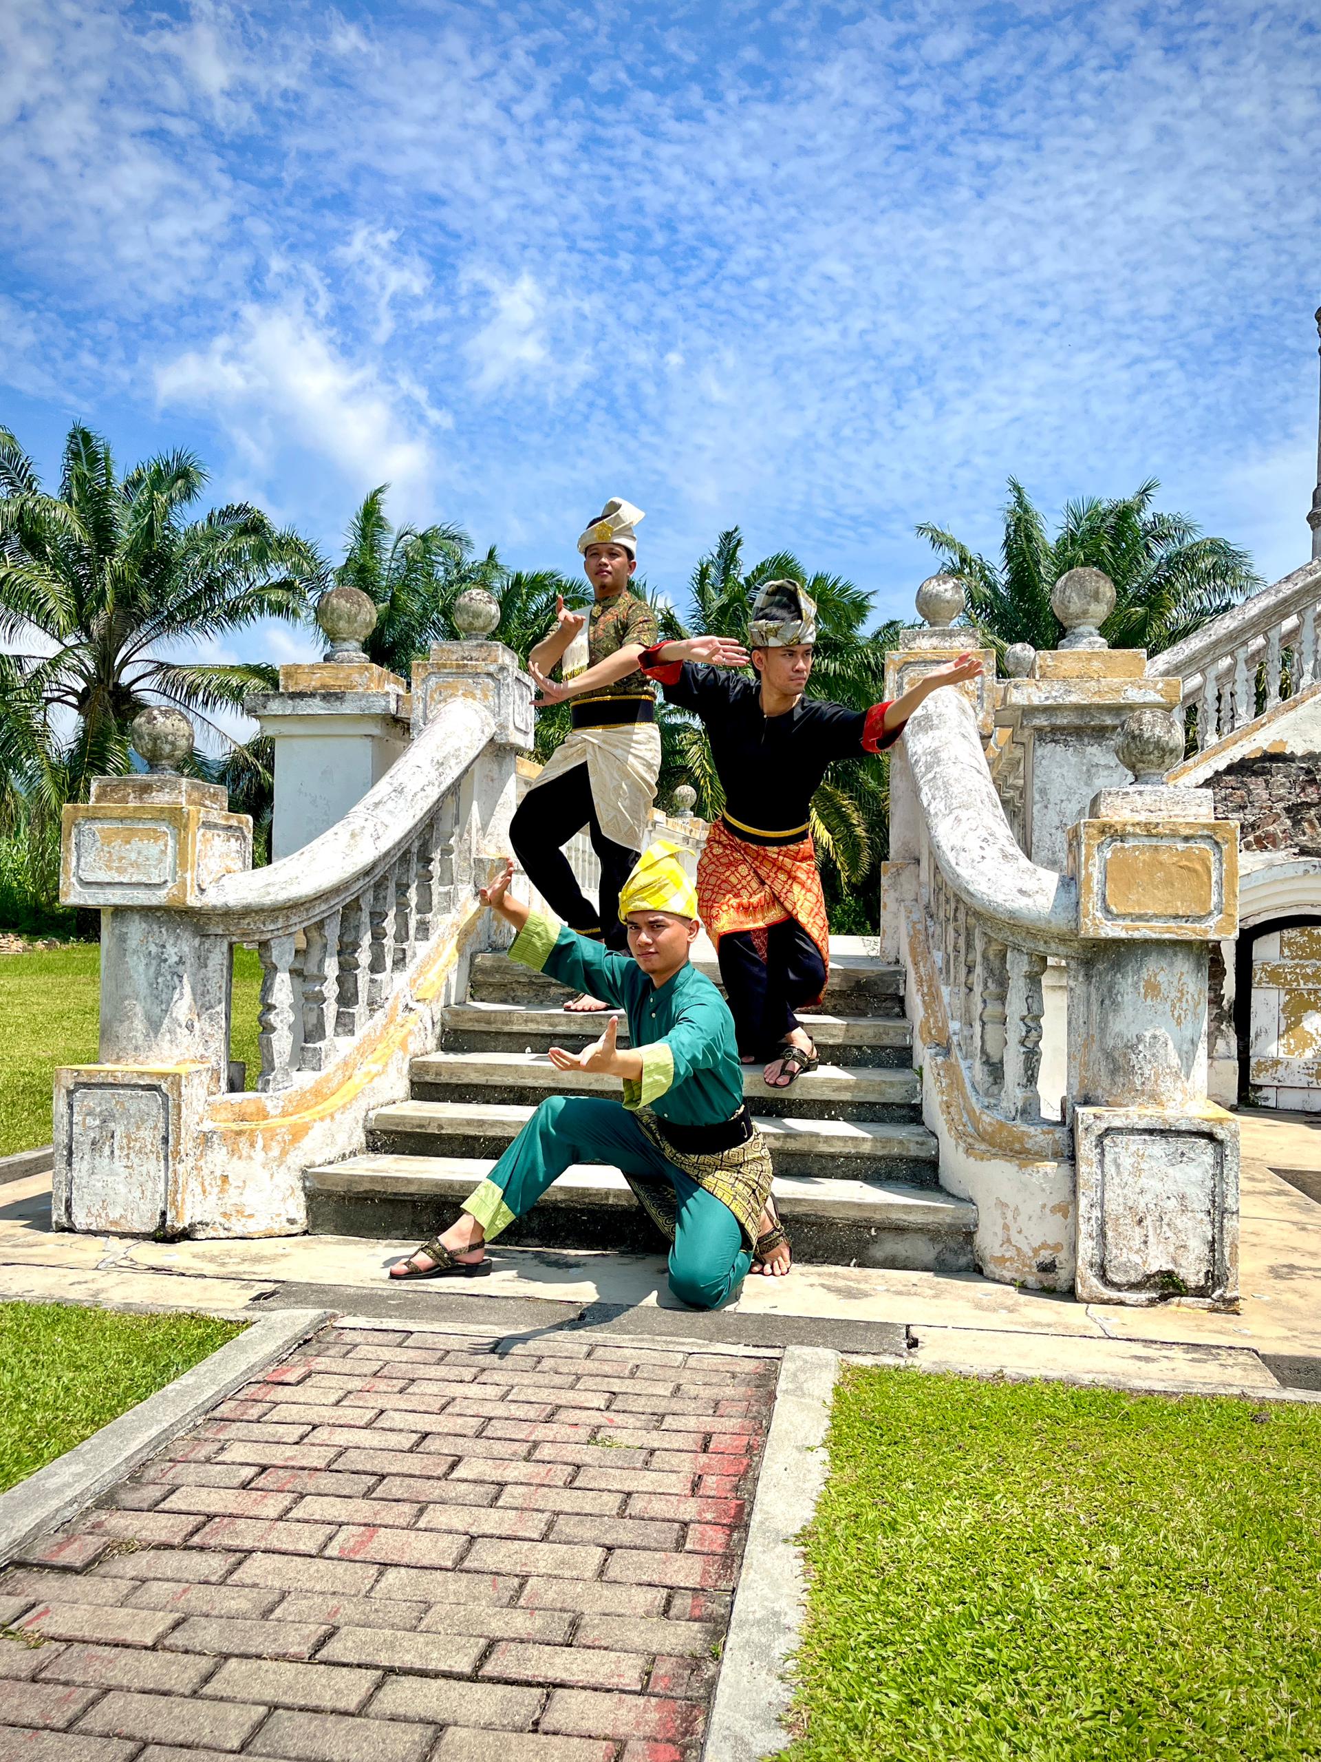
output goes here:
<path id="1" fill-rule="evenodd" d="M 817 604 L 817 645 L 812 696 L 833 698 L 868 710 L 884 698 L 886 650 L 895 645 L 898 624 L 868 636 L 870 599 L 863 589 L 837 574 L 807 574 L 791 552 L 775 552 L 750 569 L 743 567 L 743 536 L 738 527 L 722 532 L 715 548 L 697 562 L 689 583 L 685 615 L 669 611 L 668 636 L 733 636 L 747 641 L 749 613 L 764 581 L 800 581 Z M 706 729 L 678 710 L 662 710 L 660 738 L 666 775 L 687 779 L 697 791 L 697 812 L 713 819 L 724 807 Z M 682 774 L 682 775 L 680 775 Z M 671 784 L 673 788 L 673 784 Z M 856 895 L 886 853 L 888 765 L 884 759 L 831 765 L 812 800 L 812 839 L 823 863 L 826 899 L 835 916 Z"/>

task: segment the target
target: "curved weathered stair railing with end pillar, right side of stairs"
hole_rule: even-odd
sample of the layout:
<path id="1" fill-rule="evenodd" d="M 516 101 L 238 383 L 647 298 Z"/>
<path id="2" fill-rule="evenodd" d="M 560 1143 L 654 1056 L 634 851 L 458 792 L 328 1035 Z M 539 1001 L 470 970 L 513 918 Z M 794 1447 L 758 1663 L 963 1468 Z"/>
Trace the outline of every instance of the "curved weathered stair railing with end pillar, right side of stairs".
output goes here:
<path id="1" fill-rule="evenodd" d="M 886 696 L 965 645 L 948 626 L 905 631 Z M 941 1182 L 976 1202 L 992 1277 L 1106 1302 L 1231 1302 L 1236 1122 L 1207 1101 L 1207 950 L 1233 934 L 1235 832 L 1161 784 L 1155 761 L 1178 740 L 1148 708 L 1166 724 L 1155 758 L 1134 724 L 1118 747 L 1143 781 L 1083 807 L 1059 869 L 1032 862 L 983 745 L 1004 701 L 983 659 L 981 680 L 919 705 L 891 759 L 882 937 L 905 967 Z M 1053 659 L 1036 670 L 1044 696 L 1090 715 L 1097 664 Z M 1067 987 L 1053 1024 L 1048 962 Z M 1066 1043 L 1048 1047 L 1052 1033 Z M 1059 1124 L 1041 1107 L 1046 1052 L 1066 1087 Z"/>

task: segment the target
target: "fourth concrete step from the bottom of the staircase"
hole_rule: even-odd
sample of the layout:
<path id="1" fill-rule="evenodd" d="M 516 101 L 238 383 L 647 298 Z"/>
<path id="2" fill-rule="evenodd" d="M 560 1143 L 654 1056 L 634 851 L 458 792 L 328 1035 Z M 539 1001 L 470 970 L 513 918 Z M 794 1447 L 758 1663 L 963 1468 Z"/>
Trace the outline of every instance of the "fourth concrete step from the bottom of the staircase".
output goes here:
<path id="1" fill-rule="evenodd" d="M 851 1068 L 912 1064 L 912 1027 L 900 1017 L 800 1015 L 823 1057 Z M 592 1017 L 571 1015 L 550 1003 L 453 1003 L 444 1013 L 446 1052 L 579 1052 L 601 1033 Z M 627 1025 L 620 1045 L 629 1045 Z"/>

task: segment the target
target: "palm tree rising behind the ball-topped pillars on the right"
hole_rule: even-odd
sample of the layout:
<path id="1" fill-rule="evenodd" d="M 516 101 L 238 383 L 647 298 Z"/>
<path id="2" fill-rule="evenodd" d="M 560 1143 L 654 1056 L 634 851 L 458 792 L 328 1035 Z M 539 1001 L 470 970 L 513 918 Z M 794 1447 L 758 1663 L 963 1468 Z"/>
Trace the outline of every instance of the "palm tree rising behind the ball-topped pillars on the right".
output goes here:
<path id="1" fill-rule="evenodd" d="M 1009 478 L 999 562 L 944 527 L 925 522 L 918 537 L 932 544 L 942 569 L 962 576 L 967 622 L 988 648 L 1055 648 L 1060 624 L 1050 590 L 1067 569 L 1089 564 L 1115 583 L 1115 610 L 1101 627 L 1111 647 L 1159 654 L 1252 594 L 1261 576 L 1236 544 L 1205 537 L 1184 515 L 1155 513 L 1157 490 L 1150 478 L 1133 495 L 1067 502 L 1052 537 L 1027 490 Z"/>

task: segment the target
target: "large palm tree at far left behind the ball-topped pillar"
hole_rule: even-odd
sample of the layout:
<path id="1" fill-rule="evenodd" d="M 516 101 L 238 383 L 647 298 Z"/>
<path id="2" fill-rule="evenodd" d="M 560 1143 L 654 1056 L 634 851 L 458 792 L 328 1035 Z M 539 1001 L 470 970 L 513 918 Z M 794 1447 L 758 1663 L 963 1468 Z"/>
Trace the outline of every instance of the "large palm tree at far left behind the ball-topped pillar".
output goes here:
<path id="1" fill-rule="evenodd" d="M 150 703 L 187 710 L 218 751 L 211 712 L 271 691 L 259 663 L 171 650 L 259 618 L 298 622 L 321 574 L 312 544 L 247 502 L 190 520 L 208 476 L 187 449 L 120 478 L 109 444 L 76 423 L 58 493 L 0 428 L 0 779 L 39 821 L 129 770 L 129 724 Z M 4 788 L 4 784 L 0 784 Z"/>

